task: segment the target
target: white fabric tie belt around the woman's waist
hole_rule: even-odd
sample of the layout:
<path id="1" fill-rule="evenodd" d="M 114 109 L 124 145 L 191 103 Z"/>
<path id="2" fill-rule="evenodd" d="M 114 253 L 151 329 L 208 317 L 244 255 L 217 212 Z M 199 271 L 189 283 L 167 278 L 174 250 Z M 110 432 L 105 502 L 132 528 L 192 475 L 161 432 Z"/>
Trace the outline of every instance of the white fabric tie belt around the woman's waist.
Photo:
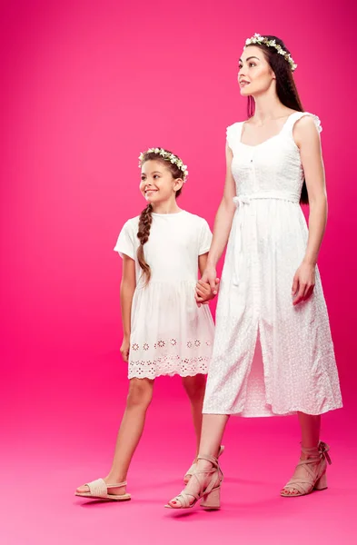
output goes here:
<path id="1" fill-rule="evenodd" d="M 300 196 L 295 193 L 285 193 L 285 192 L 262 192 L 262 193 L 252 193 L 252 194 L 242 194 L 233 197 L 233 203 L 237 208 L 242 208 L 242 210 L 237 214 L 238 221 L 238 241 L 237 247 L 234 249 L 234 272 L 233 272 L 233 284 L 238 286 L 243 282 L 243 225 L 244 225 L 244 208 L 247 204 L 250 204 L 251 201 L 257 201 L 260 199 L 277 199 L 280 201 L 289 201 L 290 203 L 300 203 Z"/>

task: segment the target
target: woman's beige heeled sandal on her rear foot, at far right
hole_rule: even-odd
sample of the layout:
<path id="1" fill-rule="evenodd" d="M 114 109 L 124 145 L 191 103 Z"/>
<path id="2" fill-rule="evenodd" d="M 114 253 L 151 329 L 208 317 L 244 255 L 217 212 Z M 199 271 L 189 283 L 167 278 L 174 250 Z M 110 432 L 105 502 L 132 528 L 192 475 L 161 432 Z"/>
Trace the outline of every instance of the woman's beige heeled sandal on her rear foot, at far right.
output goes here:
<path id="1" fill-rule="evenodd" d="M 328 454 L 329 445 L 320 441 L 319 446 L 306 449 L 302 447 L 302 452 L 310 456 L 307 460 L 301 460 L 297 464 L 303 466 L 306 471 L 305 477 L 293 477 L 281 490 L 280 495 L 284 498 L 296 498 L 311 494 L 313 490 L 325 490 L 327 488 L 326 468 L 327 462 L 331 465 L 331 458 Z M 327 461 L 327 462 L 326 462 Z M 297 490 L 290 493 L 287 489 Z"/>

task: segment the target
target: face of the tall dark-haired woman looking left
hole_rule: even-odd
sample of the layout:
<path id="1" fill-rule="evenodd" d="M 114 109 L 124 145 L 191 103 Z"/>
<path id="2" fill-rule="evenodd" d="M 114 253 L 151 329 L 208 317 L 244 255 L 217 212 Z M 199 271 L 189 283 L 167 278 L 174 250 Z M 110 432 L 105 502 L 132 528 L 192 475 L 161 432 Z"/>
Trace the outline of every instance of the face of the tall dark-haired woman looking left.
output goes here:
<path id="1" fill-rule="evenodd" d="M 238 83 L 242 96 L 265 93 L 275 79 L 262 49 L 254 45 L 246 47 L 239 59 Z"/>

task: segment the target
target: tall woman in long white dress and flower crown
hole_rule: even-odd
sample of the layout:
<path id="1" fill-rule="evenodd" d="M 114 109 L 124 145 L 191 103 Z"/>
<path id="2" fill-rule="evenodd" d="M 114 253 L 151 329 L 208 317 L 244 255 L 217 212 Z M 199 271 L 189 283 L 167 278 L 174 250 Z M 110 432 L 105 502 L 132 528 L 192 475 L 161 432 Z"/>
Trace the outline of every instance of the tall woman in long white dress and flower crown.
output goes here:
<path id="1" fill-rule="evenodd" d="M 217 307 L 213 362 L 203 403 L 194 478 L 167 507 L 201 497 L 219 506 L 216 458 L 230 414 L 298 412 L 301 459 L 284 497 L 326 488 L 322 412 L 342 407 L 317 257 L 326 223 L 318 117 L 303 112 L 296 64 L 275 36 L 246 41 L 238 80 L 248 120 L 227 129 L 227 174 L 203 282 L 228 241 Z M 310 233 L 299 203 L 310 203 Z M 228 240 L 229 239 L 229 240 Z M 204 301 L 200 295 L 199 301 Z M 257 341 L 263 351 L 254 349 Z"/>

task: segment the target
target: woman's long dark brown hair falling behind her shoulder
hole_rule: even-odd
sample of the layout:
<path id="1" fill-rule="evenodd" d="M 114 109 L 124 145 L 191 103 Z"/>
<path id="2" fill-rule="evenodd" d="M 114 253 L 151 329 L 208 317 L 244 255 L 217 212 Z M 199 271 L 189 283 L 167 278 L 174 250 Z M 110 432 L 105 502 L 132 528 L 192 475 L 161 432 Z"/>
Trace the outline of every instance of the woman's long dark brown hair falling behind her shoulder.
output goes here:
<path id="1" fill-rule="evenodd" d="M 268 40 L 275 40 L 277 45 L 280 45 L 286 53 L 290 54 L 289 49 L 284 45 L 283 41 L 276 36 L 264 35 Z M 276 77 L 276 94 L 280 102 L 287 108 L 303 112 L 302 101 L 300 99 L 296 84 L 293 79 L 293 72 L 290 64 L 284 59 L 282 54 L 279 54 L 275 47 L 267 45 L 252 44 L 254 47 L 260 47 L 265 55 L 267 62 L 273 70 Z M 250 47 L 251 45 L 247 45 Z M 255 112 L 255 102 L 253 96 L 248 96 L 248 117 L 252 117 Z M 309 196 L 305 180 L 302 183 L 302 194 L 300 196 L 302 204 L 309 203 Z"/>

